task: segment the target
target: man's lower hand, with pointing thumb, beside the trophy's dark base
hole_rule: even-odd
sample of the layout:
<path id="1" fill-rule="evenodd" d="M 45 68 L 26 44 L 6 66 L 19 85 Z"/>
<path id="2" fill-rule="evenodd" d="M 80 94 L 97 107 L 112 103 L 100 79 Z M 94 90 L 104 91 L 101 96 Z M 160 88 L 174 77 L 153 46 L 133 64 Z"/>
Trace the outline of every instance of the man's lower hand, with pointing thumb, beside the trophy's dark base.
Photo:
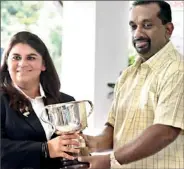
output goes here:
<path id="1" fill-rule="evenodd" d="M 88 162 L 89 169 L 109 169 L 110 155 L 95 155 L 95 156 L 81 156 L 78 157 L 80 162 Z"/>

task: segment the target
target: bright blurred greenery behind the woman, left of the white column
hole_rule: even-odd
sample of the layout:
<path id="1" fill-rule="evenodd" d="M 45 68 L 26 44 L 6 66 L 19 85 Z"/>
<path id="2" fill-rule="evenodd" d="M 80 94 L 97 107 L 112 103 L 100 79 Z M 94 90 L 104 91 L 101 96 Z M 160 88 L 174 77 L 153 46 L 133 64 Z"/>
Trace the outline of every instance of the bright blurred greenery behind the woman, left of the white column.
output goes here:
<path id="1" fill-rule="evenodd" d="M 22 30 L 31 31 L 46 43 L 58 73 L 61 71 L 62 7 L 54 1 L 1 1 L 1 47 Z M 58 7 L 57 7 L 58 8 Z"/>

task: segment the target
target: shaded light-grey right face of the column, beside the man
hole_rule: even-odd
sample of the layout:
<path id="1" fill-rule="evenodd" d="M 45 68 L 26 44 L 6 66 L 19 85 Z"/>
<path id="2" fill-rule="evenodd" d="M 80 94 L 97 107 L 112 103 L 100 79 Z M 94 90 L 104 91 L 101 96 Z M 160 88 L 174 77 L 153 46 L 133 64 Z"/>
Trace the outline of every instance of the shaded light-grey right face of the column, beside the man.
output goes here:
<path id="1" fill-rule="evenodd" d="M 128 1 L 96 1 L 95 127 L 106 121 L 112 100 L 108 82 L 128 65 Z"/>

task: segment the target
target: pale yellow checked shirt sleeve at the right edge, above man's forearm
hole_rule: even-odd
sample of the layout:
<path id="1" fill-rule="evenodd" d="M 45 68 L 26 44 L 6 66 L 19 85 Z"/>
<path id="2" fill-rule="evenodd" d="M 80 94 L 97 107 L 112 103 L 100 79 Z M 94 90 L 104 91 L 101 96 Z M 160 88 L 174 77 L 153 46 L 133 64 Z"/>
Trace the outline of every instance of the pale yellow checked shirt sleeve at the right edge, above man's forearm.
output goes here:
<path id="1" fill-rule="evenodd" d="M 158 96 L 154 124 L 184 130 L 184 72 L 174 73 L 163 85 Z"/>

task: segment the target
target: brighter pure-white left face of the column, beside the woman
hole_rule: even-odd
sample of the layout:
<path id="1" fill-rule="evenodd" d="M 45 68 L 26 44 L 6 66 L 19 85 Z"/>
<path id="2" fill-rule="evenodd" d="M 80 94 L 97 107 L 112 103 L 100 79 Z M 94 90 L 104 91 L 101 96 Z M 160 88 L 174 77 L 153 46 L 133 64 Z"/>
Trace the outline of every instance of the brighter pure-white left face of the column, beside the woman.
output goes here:
<path id="1" fill-rule="evenodd" d="M 63 1 L 61 90 L 94 98 L 95 1 Z"/>

